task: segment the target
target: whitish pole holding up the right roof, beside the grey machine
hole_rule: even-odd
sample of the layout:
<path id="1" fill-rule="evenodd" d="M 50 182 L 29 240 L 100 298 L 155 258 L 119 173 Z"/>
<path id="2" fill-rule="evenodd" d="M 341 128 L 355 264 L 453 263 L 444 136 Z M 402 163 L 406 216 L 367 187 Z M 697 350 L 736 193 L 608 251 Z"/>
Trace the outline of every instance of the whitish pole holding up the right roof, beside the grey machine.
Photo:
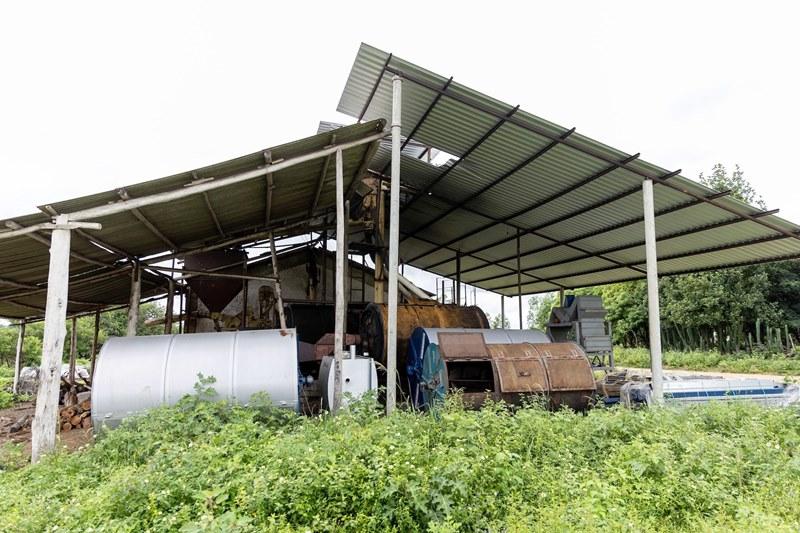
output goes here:
<path id="1" fill-rule="evenodd" d="M 653 401 L 664 401 L 664 370 L 661 364 L 661 312 L 658 302 L 658 254 L 653 181 L 642 182 L 644 198 L 644 240 L 647 259 L 647 315 L 650 326 L 650 371 L 653 377 Z"/>

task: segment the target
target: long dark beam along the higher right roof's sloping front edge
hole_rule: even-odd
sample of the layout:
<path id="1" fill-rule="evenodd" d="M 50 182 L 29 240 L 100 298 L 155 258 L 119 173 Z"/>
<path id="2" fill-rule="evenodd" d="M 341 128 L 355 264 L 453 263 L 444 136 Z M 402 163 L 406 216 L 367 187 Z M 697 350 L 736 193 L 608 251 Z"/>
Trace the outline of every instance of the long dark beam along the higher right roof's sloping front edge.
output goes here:
<path id="1" fill-rule="evenodd" d="M 480 103 L 480 102 L 476 102 L 476 101 L 472 100 L 471 98 L 468 98 L 468 97 L 466 97 L 464 95 L 455 95 L 455 94 L 453 94 L 452 92 L 449 92 L 449 91 L 441 91 L 433 83 L 430 83 L 427 80 L 423 80 L 423 79 L 421 79 L 421 78 L 419 78 L 419 77 L 417 77 L 417 76 L 415 76 L 413 74 L 406 74 L 400 69 L 396 69 L 394 67 L 390 67 L 390 66 L 388 66 L 388 63 L 387 63 L 387 66 L 386 66 L 386 70 L 391 72 L 392 74 L 403 76 L 408 81 L 410 81 L 412 83 L 415 83 L 415 84 L 417 84 L 417 85 L 419 85 L 421 87 L 425 87 L 425 88 L 427 88 L 427 89 L 429 89 L 431 91 L 440 92 L 443 95 L 448 96 L 448 97 L 456 100 L 457 102 L 460 102 L 460 103 L 462 103 L 462 104 L 464 104 L 464 105 L 466 105 L 468 107 L 471 107 L 471 108 L 473 108 L 473 109 L 475 109 L 477 111 L 480 111 L 480 112 L 485 113 L 487 115 L 493 116 L 495 118 L 503 118 L 503 113 L 501 111 L 498 111 L 496 109 L 492 109 L 490 107 L 487 107 L 485 104 Z M 527 130 L 527 131 L 531 132 L 531 133 L 535 133 L 537 135 L 541 135 L 542 137 L 545 137 L 545 138 L 550 139 L 550 140 L 557 140 L 557 136 L 556 135 L 554 135 L 553 133 L 551 133 L 551 132 L 549 132 L 549 131 L 547 131 L 547 130 L 545 130 L 543 128 L 540 128 L 538 126 L 534 126 L 532 124 L 528 124 L 528 123 L 523 122 L 521 120 L 518 120 L 518 119 L 516 119 L 514 117 L 509 118 L 508 121 L 511 122 L 512 124 L 515 124 L 515 125 L 519 126 L 520 128 L 522 128 L 524 130 Z M 614 161 L 613 161 L 613 159 L 611 157 L 609 157 L 609 156 L 607 156 L 605 154 L 602 154 L 602 153 L 600 153 L 600 152 L 598 152 L 596 150 L 593 150 L 593 149 L 587 148 L 585 146 L 582 146 L 582 145 L 580 145 L 578 143 L 575 143 L 574 141 L 572 141 L 570 139 L 564 139 L 564 140 L 559 141 L 559 142 L 564 144 L 565 146 L 569 146 L 573 150 L 577 150 L 578 152 L 586 154 L 586 155 L 588 155 L 590 157 L 593 157 L 595 159 L 599 159 L 600 161 L 605 161 L 607 163 L 614 163 Z M 709 200 L 706 197 L 704 197 L 702 194 L 692 192 L 692 191 L 690 191 L 688 189 L 685 189 L 685 188 L 683 188 L 683 187 L 681 187 L 679 185 L 675 185 L 675 184 L 672 184 L 672 183 L 665 183 L 663 177 L 650 175 L 649 172 L 645 172 L 644 170 L 641 170 L 640 168 L 635 168 L 635 167 L 628 166 L 627 163 L 621 165 L 621 167 L 624 168 L 625 170 L 633 173 L 633 174 L 636 174 L 636 175 L 642 177 L 643 179 L 653 180 L 653 183 L 658 183 L 659 185 L 664 185 L 665 187 L 668 187 L 668 188 L 670 188 L 670 189 L 672 189 L 674 191 L 683 193 L 683 194 L 685 194 L 687 196 L 691 196 L 692 198 L 695 198 L 697 200 L 701 200 L 701 201 L 703 201 L 705 203 L 708 203 L 710 205 L 718 207 L 719 209 L 722 209 L 723 211 L 728 211 L 729 213 L 732 213 L 734 215 L 740 216 L 740 217 L 745 218 L 747 220 L 755 220 L 758 224 L 761 224 L 764 227 L 770 228 L 771 230 L 777 231 L 779 233 L 783 233 L 787 237 L 791 237 L 791 238 L 800 240 L 800 235 L 793 234 L 791 231 L 789 231 L 789 230 L 787 230 L 785 228 L 781 228 L 780 226 L 772 224 L 771 222 L 768 222 L 766 220 L 753 219 L 748 214 L 741 213 L 740 211 L 738 211 L 737 209 L 735 209 L 733 207 L 717 203 L 714 200 Z"/>

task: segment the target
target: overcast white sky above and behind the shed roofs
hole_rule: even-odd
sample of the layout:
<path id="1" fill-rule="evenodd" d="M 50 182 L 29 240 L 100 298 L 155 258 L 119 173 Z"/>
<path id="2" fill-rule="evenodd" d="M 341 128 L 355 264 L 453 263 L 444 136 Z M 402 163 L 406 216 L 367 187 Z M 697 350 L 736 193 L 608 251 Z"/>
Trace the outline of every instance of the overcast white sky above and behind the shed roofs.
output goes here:
<path id="1" fill-rule="evenodd" d="M 800 222 L 795 2 L 281 4 L 3 3 L 0 219 L 352 122 L 364 41 Z"/>

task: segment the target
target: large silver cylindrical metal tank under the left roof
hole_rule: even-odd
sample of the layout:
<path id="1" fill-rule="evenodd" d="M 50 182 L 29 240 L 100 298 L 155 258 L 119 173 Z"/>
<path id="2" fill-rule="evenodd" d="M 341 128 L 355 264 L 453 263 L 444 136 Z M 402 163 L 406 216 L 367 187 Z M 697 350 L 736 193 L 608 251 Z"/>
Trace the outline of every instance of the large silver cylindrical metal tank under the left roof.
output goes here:
<path id="1" fill-rule="evenodd" d="M 92 383 L 92 422 L 116 426 L 128 416 L 174 405 L 194 393 L 198 374 L 213 376 L 220 399 L 247 403 L 257 392 L 297 410 L 294 329 L 112 337 L 100 350 Z"/>

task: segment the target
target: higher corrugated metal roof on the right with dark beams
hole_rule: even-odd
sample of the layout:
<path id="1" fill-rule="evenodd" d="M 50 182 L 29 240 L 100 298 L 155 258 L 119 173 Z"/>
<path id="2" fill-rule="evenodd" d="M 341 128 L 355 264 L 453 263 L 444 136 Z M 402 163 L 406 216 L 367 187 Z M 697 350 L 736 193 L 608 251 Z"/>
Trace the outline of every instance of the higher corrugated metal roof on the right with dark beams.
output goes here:
<path id="1" fill-rule="evenodd" d="M 515 295 L 519 230 L 525 294 L 641 278 L 645 177 L 661 274 L 800 257 L 800 226 L 366 44 L 338 110 L 389 120 L 394 74 L 402 134 L 455 156 L 438 167 L 403 157 L 409 264 L 454 277 L 460 252 L 463 281 Z M 389 157 L 382 147 L 370 168 Z"/>

